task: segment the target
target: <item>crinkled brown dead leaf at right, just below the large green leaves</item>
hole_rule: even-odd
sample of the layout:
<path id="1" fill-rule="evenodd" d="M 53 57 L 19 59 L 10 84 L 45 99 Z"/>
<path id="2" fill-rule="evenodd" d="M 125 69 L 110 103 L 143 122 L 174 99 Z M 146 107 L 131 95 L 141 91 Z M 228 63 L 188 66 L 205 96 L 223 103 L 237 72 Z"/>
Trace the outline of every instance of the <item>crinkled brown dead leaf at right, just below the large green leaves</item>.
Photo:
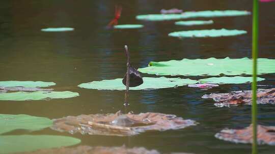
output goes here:
<path id="1" fill-rule="evenodd" d="M 203 95 L 202 98 L 212 98 L 216 106 L 223 107 L 228 105 L 249 104 L 252 101 L 252 91 L 233 91 L 231 93 L 209 94 Z M 275 104 L 275 88 L 258 89 L 257 90 L 258 104 Z"/>

